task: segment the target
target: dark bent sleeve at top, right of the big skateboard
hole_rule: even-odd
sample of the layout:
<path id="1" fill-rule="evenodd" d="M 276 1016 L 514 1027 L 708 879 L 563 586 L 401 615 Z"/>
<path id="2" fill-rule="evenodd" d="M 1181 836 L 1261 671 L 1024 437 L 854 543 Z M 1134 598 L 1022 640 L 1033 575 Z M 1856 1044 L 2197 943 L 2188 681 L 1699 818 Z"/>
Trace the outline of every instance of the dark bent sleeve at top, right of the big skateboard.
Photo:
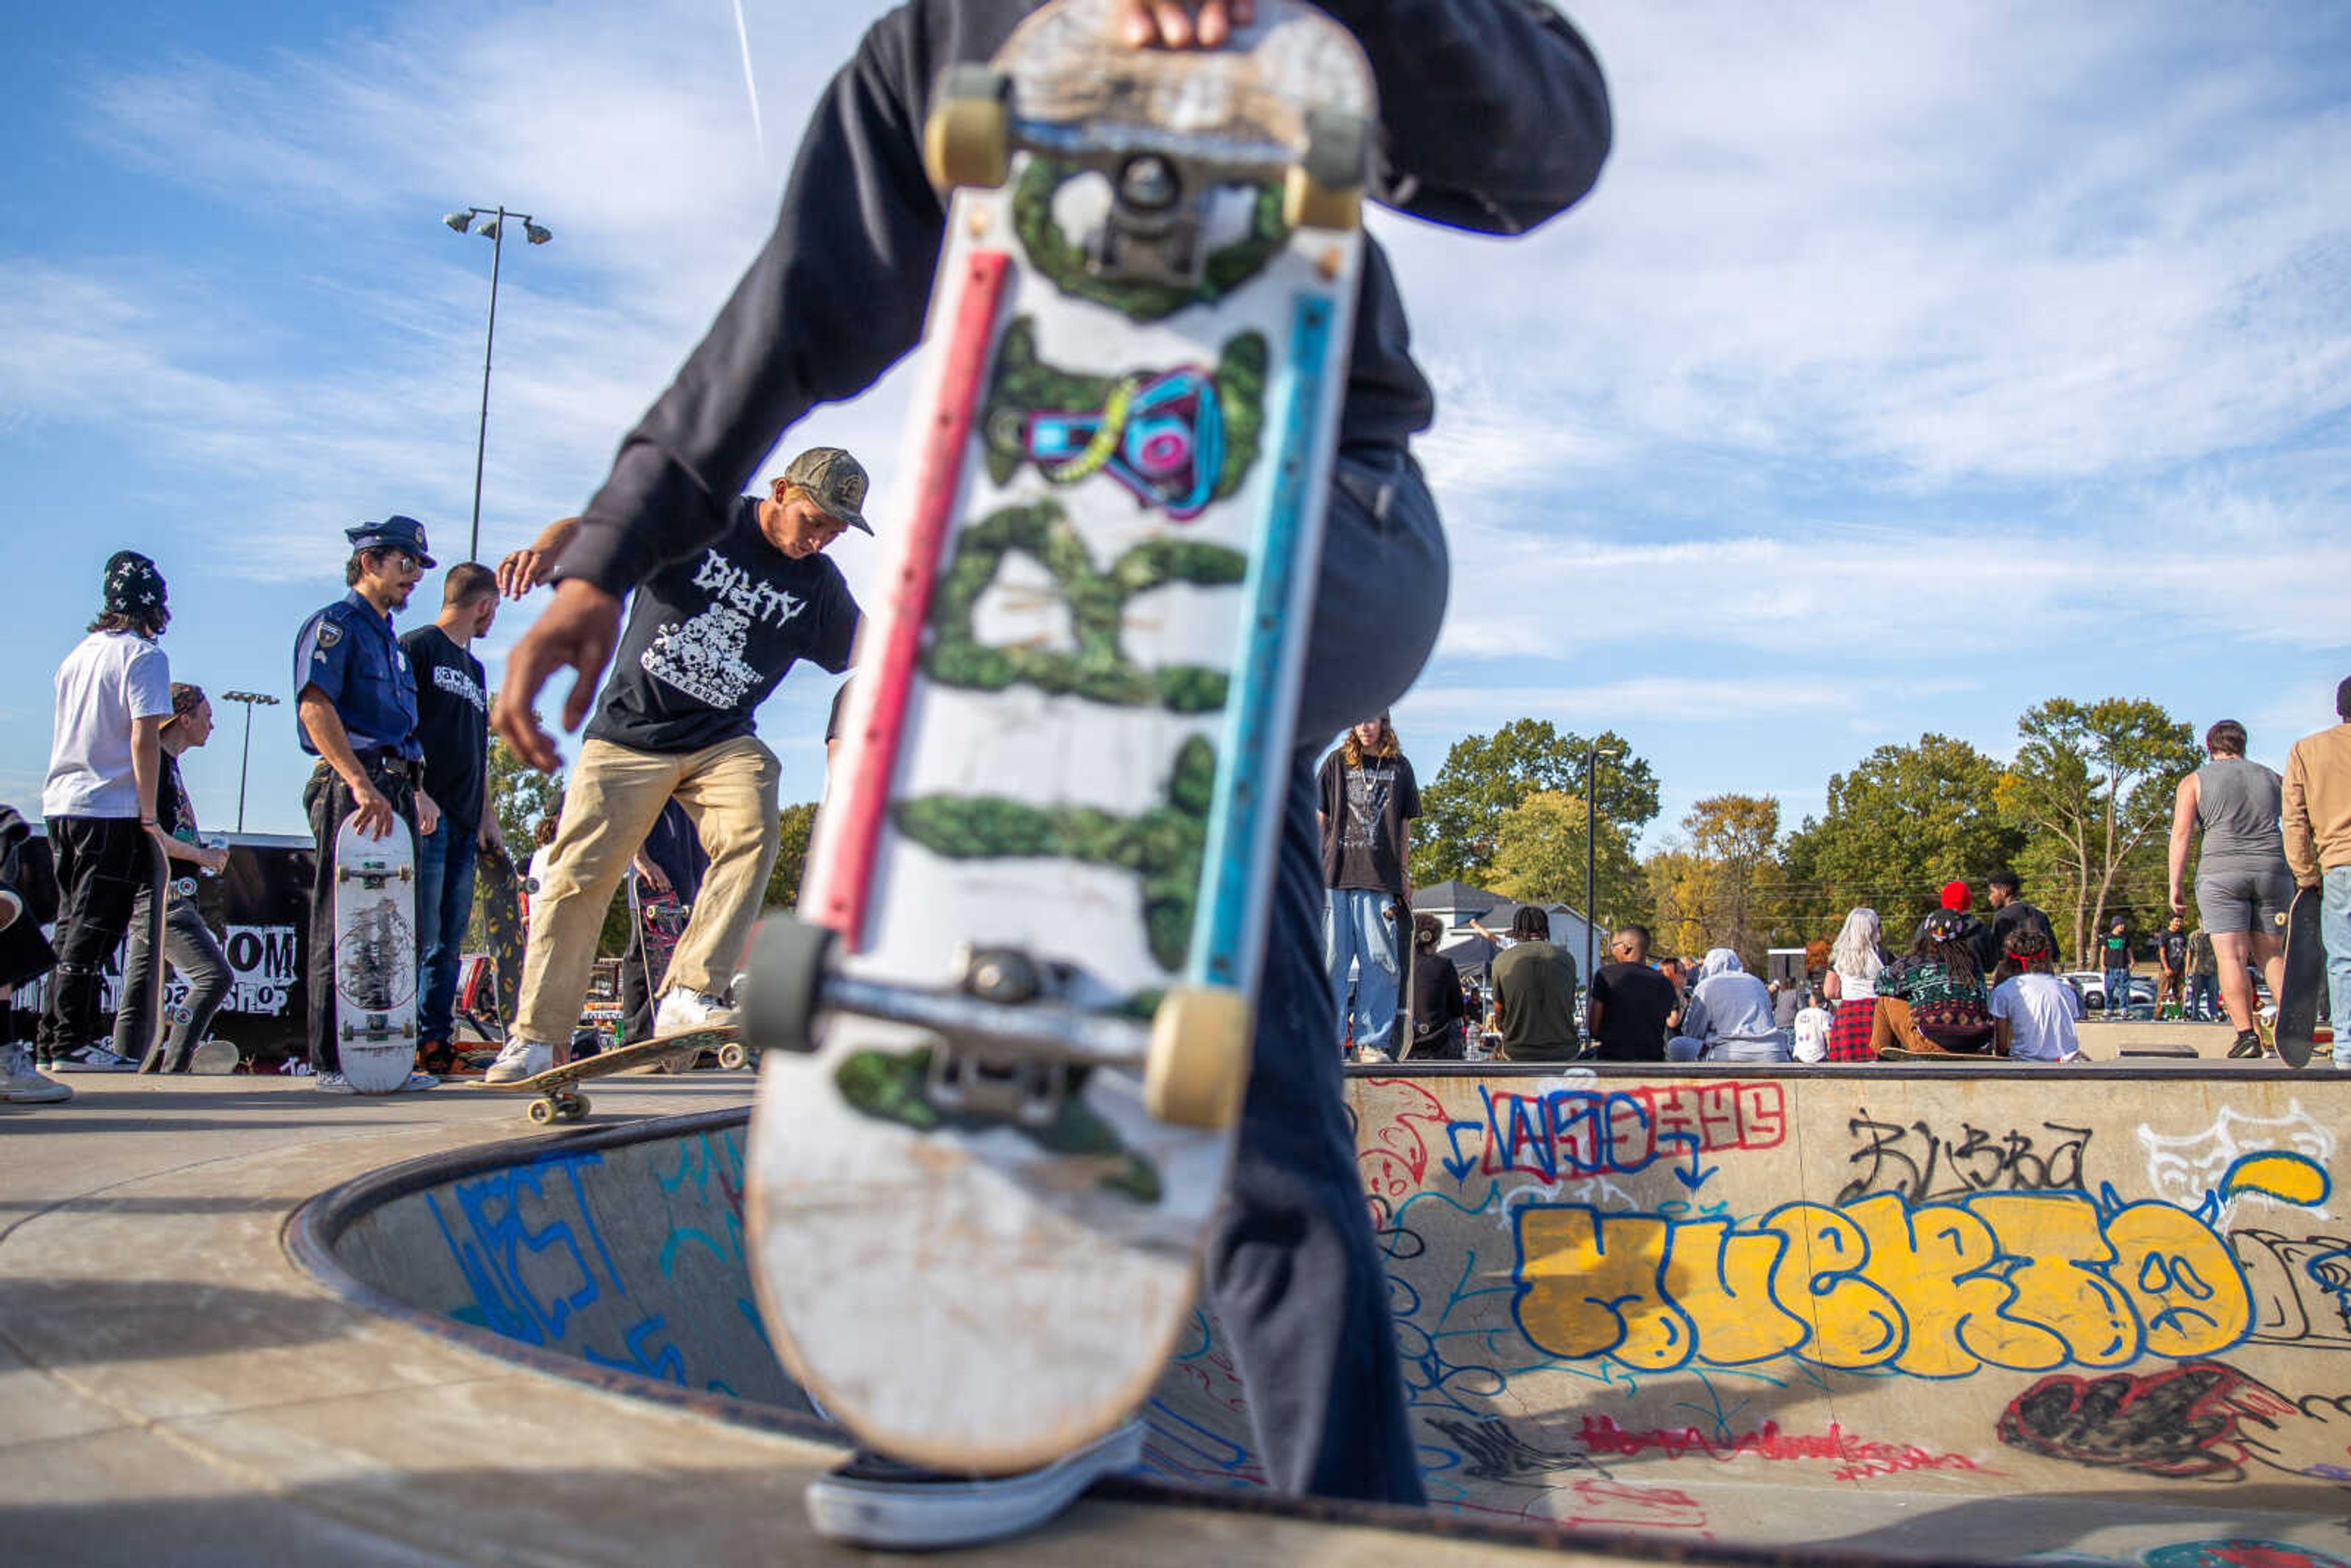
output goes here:
<path id="1" fill-rule="evenodd" d="M 1373 195 L 1519 235 L 1580 200 L 1608 158 L 1608 85 L 1545 0 L 1321 0 L 1380 82 Z"/>

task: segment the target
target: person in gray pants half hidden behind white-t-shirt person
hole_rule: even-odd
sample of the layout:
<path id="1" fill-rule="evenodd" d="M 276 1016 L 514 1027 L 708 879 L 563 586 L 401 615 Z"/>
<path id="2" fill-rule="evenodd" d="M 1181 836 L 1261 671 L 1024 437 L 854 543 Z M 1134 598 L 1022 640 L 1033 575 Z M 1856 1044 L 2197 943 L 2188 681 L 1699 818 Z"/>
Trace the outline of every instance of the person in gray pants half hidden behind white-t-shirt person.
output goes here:
<path id="1" fill-rule="evenodd" d="M 155 825 L 169 839 L 167 856 L 205 870 L 219 872 L 228 865 L 226 849 L 212 849 L 195 837 L 195 802 L 188 799 L 188 783 L 179 773 L 179 759 L 212 741 L 212 698 L 202 686 L 172 682 L 172 717 L 162 726 L 162 778 L 155 785 Z M 155 1041 L 155 1018 L 146 999 L 153 994 L 158 961 L 148 929 L 153 924 L 153 884 L 139 889 L 132 910 L 129 945 L 122 950 L 122 1001 L 115 1006 L 115 1056 L 139 1063 L 139 1072 L 186 1072 L 188 1058 L 212 1016 L 228 997 L 230 969 L 221 952 L 221 938 L 212 933 L 195 907 L 195 896 L 167 891 L 162 959 L 188 978 L 188 1006 L 172 1025 L 172 1037 Z M 160 1048 L 155 1048 L 160 1044 Z"/>

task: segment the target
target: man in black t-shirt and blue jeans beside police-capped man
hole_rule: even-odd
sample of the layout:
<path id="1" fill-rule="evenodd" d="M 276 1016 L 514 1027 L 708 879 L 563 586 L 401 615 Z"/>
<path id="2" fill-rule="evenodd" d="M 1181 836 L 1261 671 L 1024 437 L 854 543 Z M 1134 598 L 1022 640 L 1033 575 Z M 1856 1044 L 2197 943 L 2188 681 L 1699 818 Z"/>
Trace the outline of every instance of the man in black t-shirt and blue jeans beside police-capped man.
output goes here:
<path id="1" fill-rule="evenodd" d="M 473 656 L 496 618 L 498 578 L 458 562 L 442 578 L 440 616 L 400 639 L 416 677 L 423 788 L 442 809 L 416 842 L 416 1056 L 426 1072 L 456 1065 L 456 964 L 473 922 L 475 851 L 505 846 L 489 806 L 489 675 Z"/>

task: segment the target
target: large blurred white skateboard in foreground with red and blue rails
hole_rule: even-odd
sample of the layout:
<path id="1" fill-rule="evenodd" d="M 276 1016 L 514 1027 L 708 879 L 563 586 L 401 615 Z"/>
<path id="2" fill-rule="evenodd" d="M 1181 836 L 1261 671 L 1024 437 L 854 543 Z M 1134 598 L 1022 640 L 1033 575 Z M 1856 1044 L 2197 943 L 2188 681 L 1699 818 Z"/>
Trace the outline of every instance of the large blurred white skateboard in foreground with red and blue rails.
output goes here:
<path id="1" fill-rule="evenodd" d="M 926 127 L 955 188 L 846 755 L 752 943 L 759 1300 L 868 1446 L 1131 1415 L 1225 1187 L 1312 618 L 1371 71 L 1260 0 L 1058 0 Z"/>

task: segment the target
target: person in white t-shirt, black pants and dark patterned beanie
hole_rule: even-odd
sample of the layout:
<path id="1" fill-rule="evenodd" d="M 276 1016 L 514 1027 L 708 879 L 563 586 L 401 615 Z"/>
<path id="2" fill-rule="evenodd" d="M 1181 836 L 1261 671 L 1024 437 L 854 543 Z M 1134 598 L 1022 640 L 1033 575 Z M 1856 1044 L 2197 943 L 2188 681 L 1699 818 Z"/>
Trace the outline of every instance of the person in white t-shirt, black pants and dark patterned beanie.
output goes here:
<path id="1" fill-rule="evenodd" d="M 162 574 L 136 550 L 106 562 L 101 592 L 89 635 L 56 670 L 56 729 L 40 790 L 59 910 L 56 973 L 33 1048 L 38 1067 L 56 1072 L 139 1067 L 115 1056 L 113 1030 L 99 1027 L 99 985 L 162 844 L 155 790 L 162 726 L 172 719 L 172 661 L 155 639 L 172 611 Z"/>

